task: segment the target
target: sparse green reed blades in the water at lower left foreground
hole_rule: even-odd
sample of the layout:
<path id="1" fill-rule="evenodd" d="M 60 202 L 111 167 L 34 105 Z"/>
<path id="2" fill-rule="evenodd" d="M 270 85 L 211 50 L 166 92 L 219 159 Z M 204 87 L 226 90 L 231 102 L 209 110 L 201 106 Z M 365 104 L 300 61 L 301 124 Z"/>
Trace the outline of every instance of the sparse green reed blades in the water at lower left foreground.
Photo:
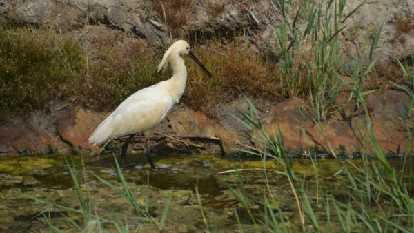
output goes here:
<path id="1" fill-rule="evenodd" d="M 74 183 L 74 190 L 77 194 L 77 200 L 79 201 L 79 208 L 75 207 L 66 207 L 64 205 L 59 205 L 57 203 L 52 203 L 51 201 L 48 201 L 46 199 L 41 199 L 36 196 L 27 196 L 30 199 L 33 199 L 34 201 L 37 201 L 38 203 L 43 203 L 45 205 L 52 206 L 53 210 L 66 210 L 71 213 L 75 214 L 81 214 L 83 216 L 83 221 L 73 221 L 72 217 L 66 216 L 63 214 L 63 217 L 66 219 L 67 225 L 65 228 L 69 227 L 70 229 L 75 228 L 79 231 L 85 231 L 85 232 L 95 232 L 98 230 L 99 232 L 105 232 L 105 228 L 103 226 L 103 223 L 106 223 L 106 225 L 110 224 L 113 225 L 118 232 L 129 232 L 128 223 L 126 222 L 126 219 L 120 218 L 116 213 L 111 216 L 111 219 L 103 219 L 101 216 L 97 214 L 97 210 L 99 210 L 99 207 L 95 206 L 94 203 L 91 201 L 91 192 L 88 190 L 88 173 L 92 174 L 93 177 L 97 179 L 97 181 L 100 181 L 103 185 L 106 185 L 110 190 L 113 190 L 117 192 L 118 194 L 121 194 L 124 199 L 128 202 L 130 207 L 132 207 L 133 215 L 135 219 L 138 219 L 140 223 L 148 229 L 147 224 L 152 224 L 155 227 L 157 227 L 157 230 L 161 232 L 163 229 L 165 223 L 166 223 L 166 217 L 168 214 L 168 210 L 170 207 L 172 194 L 170 194 L 170 197 L 166 201 L 166 205 L 164 207 L 164 211 L 162 212 L 159 221 L 155 219 L 153 216 L 151 216 L 149 212 L 150 207 L 150 197 L 149 192 L 146 194 L 146 202 L 144 205 L 141 205 L 139 203 L 139 195 L 140 193 L 137 191 L 137 186 L 135 183 L 132 183 L 132 186 L 128 184 L 126 181 L 124 174 L 121 170 L 121 167 L 119 166 L 119 163 L 117 161 L 116 156 L 114 155 L 115 159 L 115 172 L 117 174 L 117 178 L 119 180 L 119 183 L 121 183 L 121 188 L 117 187 L 117 184 L 113 184 L 110 181 L 103 179 L 101 176 L 98 176 L 97 174 L 87 172 L 85 165 L 83 163 L 83 160 L 81 161 L 81 165 L 83 168 L 83 179 L 79 179 L 79 172 L 75 168 L 75 164 L 72 162 L 72 165 L 68 165 L 70 176 L 72 176 L 72 181 Z M 148 180 L 149 182 L 149 180 Z M 82 188 L 83 185 L 86 184 L 86 188 Z M 149 183 L 148 183 L 149 187 Z M 61 226 L 57 226 L 56 223 L 53 223 L 52 218 L 48 216 L 48 212 L 50 209 L 46 209 L 42 214 L 45 217 L 46 223 L 48 223 L 50 230 L 52 232 L 62 232 Z M 141 225 L 141 226 L 142 226 Z M 136 230 L 139 229 L 137 226 Z M 60 227 L 60 228 L 59 228 Z M 97 228 L 97 229 L 95 229 Z"/>

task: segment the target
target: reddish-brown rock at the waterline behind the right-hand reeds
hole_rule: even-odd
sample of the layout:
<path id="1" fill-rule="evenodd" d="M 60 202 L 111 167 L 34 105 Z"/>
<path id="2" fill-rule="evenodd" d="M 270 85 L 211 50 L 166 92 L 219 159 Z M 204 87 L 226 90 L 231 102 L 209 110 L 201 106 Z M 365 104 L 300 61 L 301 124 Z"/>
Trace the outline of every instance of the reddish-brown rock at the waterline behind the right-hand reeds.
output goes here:
<path id="1" fill-rule="evenodd" d="M 371 94 L 366 98 L 375 136 L 386 153 L 403 152 L 408 143 L 403 100 L 408 101 L 403 92 L 392 90 L 382 94 Z M 264 122 L 267 123 L 266 132 L 278 132 L 279 126 L 286 148 L 295 152 L 304 151 L 306 148 L 318 148 L 331 153 L 332 148 L 335 154 L 352 153 L 361 149 L 363 144 L 358 129 L 360 125 L 368 139 L 367 147 L 372 149 L 366 116 L 363 113 L 353 113 L 353 104 L 348 105 L 342 114 L 333 114 L 328 121 L 322 121 L 320 127 L 315 124 L 310 114 L 304 116 L 299 112 L 299 107 L 304 105 L 305 102 L 301 100 L 277 104 L 264 118 Z"/>

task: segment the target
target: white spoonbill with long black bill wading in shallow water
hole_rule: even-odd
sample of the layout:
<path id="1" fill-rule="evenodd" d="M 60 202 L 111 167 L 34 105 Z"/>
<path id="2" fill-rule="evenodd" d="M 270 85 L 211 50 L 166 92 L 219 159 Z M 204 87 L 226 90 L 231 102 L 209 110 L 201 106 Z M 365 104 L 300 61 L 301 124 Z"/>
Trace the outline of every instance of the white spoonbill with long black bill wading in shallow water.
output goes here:
<path id="1" fill-rule="evenodd" d="M 124 100 L 90 135 L 89 143 L 95 145 L 108 139 L 130 135 L 122 145 L 121 160 L 123 160 L 132 138 L 142 132 L 146 136 L 145 154 L 151 168 L 154 169 L 155 165 L 150 154 L 150 136 L 154 133 L 155 127 L 171 112 L 175 103 L 179 102 L 186 88 L 187 69 L 181 54 L 188 54 L 208 74 L 208 77 L 211 77 L 210 72 L 191 52 L 190 45 L 183 40 L 176 41 L 168 48 L 158 65 L 160 71 L 165 70 L 170 64 L 172 77 L 141 89 Z"/>

